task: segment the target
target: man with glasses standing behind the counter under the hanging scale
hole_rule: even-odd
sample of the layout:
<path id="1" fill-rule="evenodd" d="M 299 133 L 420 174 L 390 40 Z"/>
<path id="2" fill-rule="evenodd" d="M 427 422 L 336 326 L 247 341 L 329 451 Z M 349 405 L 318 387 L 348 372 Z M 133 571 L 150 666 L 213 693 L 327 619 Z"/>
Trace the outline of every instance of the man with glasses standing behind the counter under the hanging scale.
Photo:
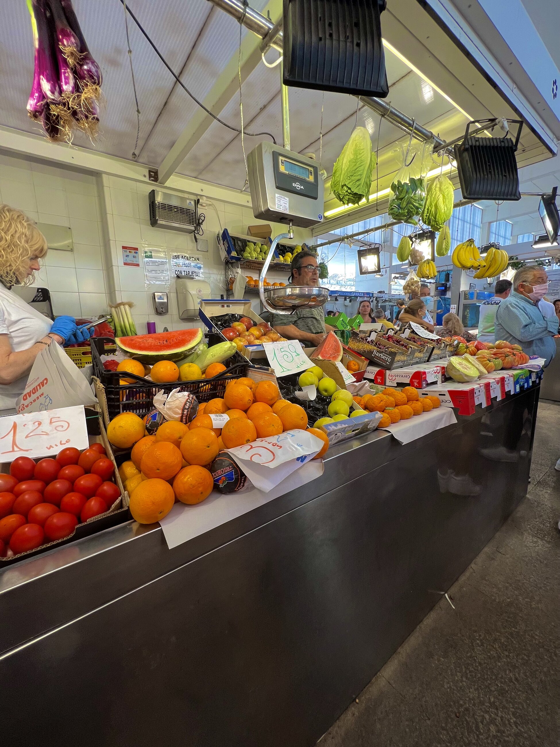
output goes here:
<path id="1" fill-rule="evenodd" d="M 292 259 L 290 285 L 319 286 L 319 263 L 313 252 L 298 252 Z M 296 309 L 293 314 L 273 314 L 276 332 L 288 340 L 299 340 L 304 347 L 317 347 L 334 327 L 325 324 L 323 306 Z"/>

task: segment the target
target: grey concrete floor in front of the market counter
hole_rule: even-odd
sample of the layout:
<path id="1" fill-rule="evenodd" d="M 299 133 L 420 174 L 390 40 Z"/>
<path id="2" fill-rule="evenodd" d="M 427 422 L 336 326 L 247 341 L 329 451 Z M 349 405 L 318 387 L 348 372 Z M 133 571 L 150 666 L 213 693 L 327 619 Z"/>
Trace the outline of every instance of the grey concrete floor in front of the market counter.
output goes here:
<path id="1" fill-rule="evenodd" d="M 527 497 L 320 747 L 560 746 L 560 403 Z"/>

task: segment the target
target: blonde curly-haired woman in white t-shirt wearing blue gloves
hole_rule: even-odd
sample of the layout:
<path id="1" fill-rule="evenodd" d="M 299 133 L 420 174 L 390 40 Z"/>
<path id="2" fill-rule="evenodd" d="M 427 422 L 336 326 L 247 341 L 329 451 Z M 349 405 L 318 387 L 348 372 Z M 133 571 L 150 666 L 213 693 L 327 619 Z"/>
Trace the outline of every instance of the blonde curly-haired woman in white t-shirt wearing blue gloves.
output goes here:
<path id="1" fill-rule="evenodd" d="M 13 285 L 29 285 L 47 252 L 45 237 L 20 210 L 0 203 L 0 416 L 15 411 L 31 366 L 41 350 L 53 342 L 87 340 L 72 317 L 53 323 L 19 296 Z"/>

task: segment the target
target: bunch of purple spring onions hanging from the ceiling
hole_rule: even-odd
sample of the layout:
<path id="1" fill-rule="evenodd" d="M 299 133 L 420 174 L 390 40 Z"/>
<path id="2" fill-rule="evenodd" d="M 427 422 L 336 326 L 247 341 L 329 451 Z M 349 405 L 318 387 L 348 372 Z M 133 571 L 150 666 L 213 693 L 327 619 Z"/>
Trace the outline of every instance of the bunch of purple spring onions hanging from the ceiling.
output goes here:
<path id="1" fill-rule="evenodd" d="M 102 74 L 87 48 L 72 0 L 27 0 L 35 72 L 27 111 L 49 140 L 72 141 L 75 128 L 97 134 Z"/>

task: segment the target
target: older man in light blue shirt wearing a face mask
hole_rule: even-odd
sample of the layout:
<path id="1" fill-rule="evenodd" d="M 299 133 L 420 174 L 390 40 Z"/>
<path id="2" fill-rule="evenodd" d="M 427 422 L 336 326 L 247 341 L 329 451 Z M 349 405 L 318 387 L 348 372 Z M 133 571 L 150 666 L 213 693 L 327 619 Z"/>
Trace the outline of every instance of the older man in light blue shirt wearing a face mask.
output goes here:
<path id="1" fill-rule="evenodd" d="M 544 358 L 547 366 L 556 353 L 553 337 L 559 329 L 558 317 L 545 319 L 538 309 L 547 294 L 547 273 L 538 265 L 522 267 L 512 282 L 511 295 L 496 312 L 495 339 L 520 345 L 528 356 Z"/>

